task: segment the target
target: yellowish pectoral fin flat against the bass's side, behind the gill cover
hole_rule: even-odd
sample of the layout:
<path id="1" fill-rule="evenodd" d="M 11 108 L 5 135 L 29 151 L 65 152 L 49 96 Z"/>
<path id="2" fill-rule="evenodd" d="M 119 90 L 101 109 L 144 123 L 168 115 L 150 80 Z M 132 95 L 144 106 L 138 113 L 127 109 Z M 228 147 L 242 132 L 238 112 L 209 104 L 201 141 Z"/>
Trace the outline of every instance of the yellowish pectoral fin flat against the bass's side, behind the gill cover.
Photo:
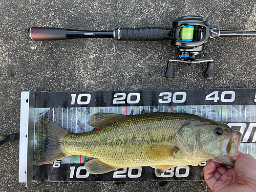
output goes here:
<path id="1" fill-rule="evenodd" d="M 175 157 L 178 148 L 166 145 L 153 145 L 145 148 L 145 154 L 148 158 L 154 160 L 168 159 Z"/>

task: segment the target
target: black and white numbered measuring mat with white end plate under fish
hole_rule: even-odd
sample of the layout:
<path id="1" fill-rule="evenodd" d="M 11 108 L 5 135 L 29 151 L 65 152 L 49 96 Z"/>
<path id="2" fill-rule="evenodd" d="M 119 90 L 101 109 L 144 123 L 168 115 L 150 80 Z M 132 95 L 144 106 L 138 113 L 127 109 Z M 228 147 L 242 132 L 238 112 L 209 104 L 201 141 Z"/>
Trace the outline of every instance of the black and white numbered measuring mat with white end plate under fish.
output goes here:
<path id="1" fill-rule="evenodd" d="M 206 162 L 178 166 L 156 177 L 154 168 L 121 168 L 101 175 L 87 173 L 84 163 L 93 159 L 71 156 L 51 164 L 34 163 L 35 122 L 44 116 L 64 129 L 84 133 L 95 113 L 189 113 L 228 124 L 242 133 L 239 150 L 256 159 L 256 90 L 202 89 L 105 92 L 22 92 L 20 116 L 19 182 L 45 181 L 166 181 L 204 180 Z"/>

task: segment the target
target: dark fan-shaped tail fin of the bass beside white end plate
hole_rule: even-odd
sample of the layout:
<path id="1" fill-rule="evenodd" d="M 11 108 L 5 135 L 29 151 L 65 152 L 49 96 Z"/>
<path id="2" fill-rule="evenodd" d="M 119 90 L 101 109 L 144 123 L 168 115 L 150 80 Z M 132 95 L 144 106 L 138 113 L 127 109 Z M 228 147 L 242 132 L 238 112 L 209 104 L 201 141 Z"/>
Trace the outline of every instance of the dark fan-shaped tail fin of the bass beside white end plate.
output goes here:
<path id="1" fill-rule="evenodd" d="M 70 156 L 65 153 L 64 138 L 67 130 L 49 119 L 40 117 L 35 125 L 37 144 L 34 152 L 36 165 L 48 164 Z"/>

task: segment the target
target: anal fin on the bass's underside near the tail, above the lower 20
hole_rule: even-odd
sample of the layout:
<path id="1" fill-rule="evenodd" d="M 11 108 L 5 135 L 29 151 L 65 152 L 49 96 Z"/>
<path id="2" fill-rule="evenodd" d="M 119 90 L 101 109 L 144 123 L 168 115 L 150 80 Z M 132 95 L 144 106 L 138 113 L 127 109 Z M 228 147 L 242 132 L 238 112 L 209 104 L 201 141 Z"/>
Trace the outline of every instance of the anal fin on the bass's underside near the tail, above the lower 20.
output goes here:
<path id="1" fill-rule="evenodd" d="M 99 159 L 92 159 L 86 162 L 84 167 L 86 168 L 87 172 L 91 174 L 104 174 L 120 168 L 103 163 Z"/>

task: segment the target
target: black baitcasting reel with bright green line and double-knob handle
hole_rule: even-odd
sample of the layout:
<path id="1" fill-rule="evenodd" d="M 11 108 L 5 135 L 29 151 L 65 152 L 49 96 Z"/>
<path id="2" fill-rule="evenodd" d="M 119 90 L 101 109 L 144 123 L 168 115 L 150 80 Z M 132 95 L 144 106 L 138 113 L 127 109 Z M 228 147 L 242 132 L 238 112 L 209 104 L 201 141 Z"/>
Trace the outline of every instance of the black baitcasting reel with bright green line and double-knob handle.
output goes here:
<path id="1" fill-rule="evenodd" d="M 174 77 L 174 61 L 188 63 L 193 66 L 194 63 L 207 62 L 205 77 L 212 79 L 215 76 L 214 60 L 204 60 L 196 58 L 199 52 L 204 50 L 204 44 L 208 39 L 215 39 L 220 36 L 217 29 L 209 28 L 206 20 L 199 16 L 184 16 L 173 22 L 172 45 L 179 51 L 181 60 L 169 60 L 165 76 Z"/>

